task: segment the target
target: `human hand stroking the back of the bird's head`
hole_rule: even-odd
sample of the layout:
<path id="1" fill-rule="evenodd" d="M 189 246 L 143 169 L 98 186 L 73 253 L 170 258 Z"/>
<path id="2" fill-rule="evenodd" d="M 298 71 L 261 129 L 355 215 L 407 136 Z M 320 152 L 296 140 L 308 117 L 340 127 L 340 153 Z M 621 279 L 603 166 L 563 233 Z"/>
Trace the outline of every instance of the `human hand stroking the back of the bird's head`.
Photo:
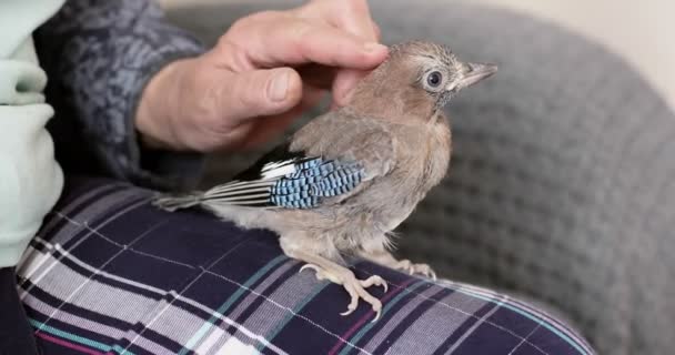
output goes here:
<path id="1" fill-rule="evenodd" d="M 135 116 L 147 144 L 200 152 L 283 132 L 325 89 L 343 105 L 387 54 L 365 0 L 314 0 L 236 21 L 209 52 L 159 71 Z"/>

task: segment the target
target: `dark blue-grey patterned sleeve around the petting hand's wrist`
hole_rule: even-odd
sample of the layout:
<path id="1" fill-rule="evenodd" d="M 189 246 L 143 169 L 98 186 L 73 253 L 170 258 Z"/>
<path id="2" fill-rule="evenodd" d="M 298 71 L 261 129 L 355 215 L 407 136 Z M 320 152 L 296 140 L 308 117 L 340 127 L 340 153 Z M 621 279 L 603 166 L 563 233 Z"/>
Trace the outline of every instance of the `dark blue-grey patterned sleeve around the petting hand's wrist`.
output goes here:
<path id="1" fill-rule="evenodd" d="M 145 83 L 203 52 L 152 0 L 68 0 L 36 33 L 56 109 L 49 126 L 67 173 L 105 174 L 158 189 L 195 183 L 202 156 L 141 146 L 133 120 Z M 84 149 L 83 149 L 84 146 Z"/>

